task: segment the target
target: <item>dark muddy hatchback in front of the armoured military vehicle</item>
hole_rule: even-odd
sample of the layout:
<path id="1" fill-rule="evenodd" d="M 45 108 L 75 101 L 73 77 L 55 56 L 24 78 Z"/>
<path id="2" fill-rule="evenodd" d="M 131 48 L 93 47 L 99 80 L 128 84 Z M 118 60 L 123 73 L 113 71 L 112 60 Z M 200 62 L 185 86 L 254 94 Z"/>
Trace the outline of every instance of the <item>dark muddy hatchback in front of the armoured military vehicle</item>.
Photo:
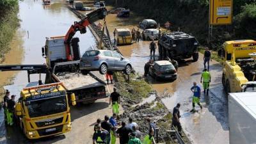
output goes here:
<path id="1" fill-rule="evenodd" d="M 177 71 L 170 61 L 155 61 L 149 68 L 149 75 L 156 80 L 177 79 Z"/>

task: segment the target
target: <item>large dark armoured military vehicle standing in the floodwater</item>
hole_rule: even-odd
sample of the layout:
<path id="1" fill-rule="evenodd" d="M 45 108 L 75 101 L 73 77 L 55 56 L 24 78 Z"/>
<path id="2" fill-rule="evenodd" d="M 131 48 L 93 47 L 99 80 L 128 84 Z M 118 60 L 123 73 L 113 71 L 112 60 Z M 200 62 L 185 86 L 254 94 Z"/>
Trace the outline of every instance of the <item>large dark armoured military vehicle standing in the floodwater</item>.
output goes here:
<path id="1" fill-rule="evenodd" d="M 198 41 L 194 36 L 183 32 L 166 33 L 159 38 L 159 58 L 175 60 L 193 57 L 198 60 Z"/>

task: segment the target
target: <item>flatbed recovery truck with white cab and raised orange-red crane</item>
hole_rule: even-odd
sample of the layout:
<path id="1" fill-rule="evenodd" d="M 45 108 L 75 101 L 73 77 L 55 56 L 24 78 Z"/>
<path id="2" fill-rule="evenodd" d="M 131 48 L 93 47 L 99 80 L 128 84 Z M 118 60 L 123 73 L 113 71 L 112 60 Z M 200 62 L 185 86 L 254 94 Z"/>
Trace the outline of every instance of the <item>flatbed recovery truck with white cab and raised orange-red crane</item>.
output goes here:
<path id="1" fill-rule="evenodd" d="M 88 13 L 79 22 L 74 22 L 65 36 L 46 38 L 42 47 L 42 56 L 52 72 L 46 75 L 46 81 L 62 82 L 67 92 L 75 93 L 76 102 L 88 104 L 106 98 L 106 83 L 92 72 L 84 74 L 79 70 L 79 38 L 73 38 L 77 31 L 86 33 L 89 24 L 104 19 L 106 12 L 106 8 L 98 8 Z"/>

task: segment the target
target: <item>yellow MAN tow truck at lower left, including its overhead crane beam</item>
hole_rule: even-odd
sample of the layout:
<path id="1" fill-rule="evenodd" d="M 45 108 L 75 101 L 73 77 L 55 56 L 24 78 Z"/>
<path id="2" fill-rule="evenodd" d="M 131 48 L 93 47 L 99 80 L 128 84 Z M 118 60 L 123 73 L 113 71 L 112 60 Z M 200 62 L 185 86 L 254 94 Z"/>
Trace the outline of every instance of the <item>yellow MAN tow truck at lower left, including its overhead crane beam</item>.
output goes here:
<path id="1" fill-rule="evenodd" d="M 74 93 L 68 93 L 62 83 L 30 82 L 30 74 L 49 73 L 46 65 L 0 65 L 0 71 L 27 70 L 28 84 L 4 86 L 11 94 L 20 92 L 15 105 L 15 120 L 28 139 L 63 134 L 71 131 L 70 104 L 76 105 Z M 19 90 L 21 89 L 21 90 Z M 17 92 L 18 93 L 18 92 Z M 68 97 L 71 99 L 68 99 Z"/>

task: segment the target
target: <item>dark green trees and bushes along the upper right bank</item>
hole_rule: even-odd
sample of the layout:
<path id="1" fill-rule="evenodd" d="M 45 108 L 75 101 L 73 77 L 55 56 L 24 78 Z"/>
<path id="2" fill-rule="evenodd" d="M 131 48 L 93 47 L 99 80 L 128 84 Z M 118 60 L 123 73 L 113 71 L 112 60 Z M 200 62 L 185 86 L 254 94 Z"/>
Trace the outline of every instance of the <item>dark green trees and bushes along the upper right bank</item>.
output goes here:
<path id="1" fill-rule="evenodd" d="M 214 26 L 209 46 L 216 48 L 226 40 L 255 38 L 255 1 L 233 0 L 233 24 Z M 115 5 L 115 0 L 107 0 L 107 3 Z M 196 36 L 200 44 L 209 42 L 209 0 L 117 0 L 117 4 L 143 17 L 155 19 L 161 26 L 170 21 L 172 30 L 180 27 L 182 31 Z"/>

